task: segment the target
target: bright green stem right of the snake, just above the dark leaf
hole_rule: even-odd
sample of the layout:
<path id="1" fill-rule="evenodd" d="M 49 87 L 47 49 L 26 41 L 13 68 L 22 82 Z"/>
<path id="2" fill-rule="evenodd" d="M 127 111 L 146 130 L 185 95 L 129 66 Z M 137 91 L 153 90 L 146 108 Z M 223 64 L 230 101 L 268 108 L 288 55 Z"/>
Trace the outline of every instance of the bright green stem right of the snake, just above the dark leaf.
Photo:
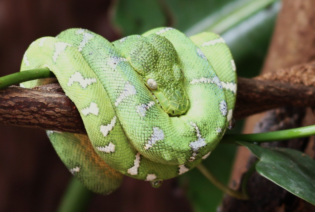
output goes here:
<path id="1" fill-rule="evenodd" d="M 315 125 L 299 127 L 289 130 L 275 132 L 262 132 L 252 134 L 226 134 L 221 140 L 222 143 L 232 144 L 235 141 L 246 141 L 250 143 L 264 143 L 273 141 L 283 141 L 294 138 L 303 138 L 315 135 Z"/>

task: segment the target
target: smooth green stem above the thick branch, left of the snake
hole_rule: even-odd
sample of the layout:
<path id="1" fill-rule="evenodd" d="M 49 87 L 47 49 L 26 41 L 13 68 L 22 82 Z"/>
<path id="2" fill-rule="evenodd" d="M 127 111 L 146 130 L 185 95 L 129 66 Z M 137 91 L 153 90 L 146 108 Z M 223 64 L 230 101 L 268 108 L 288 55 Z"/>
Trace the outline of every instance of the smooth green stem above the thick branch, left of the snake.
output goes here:
<path id="1" fill-rule="evenodd" d="M 34 79 L 44 79 L 50 77 L 55 77 L 55 75 L 48 68 L 35 68 L 27 71 L 21 71 L 0 77 L 0 89 Z"/>

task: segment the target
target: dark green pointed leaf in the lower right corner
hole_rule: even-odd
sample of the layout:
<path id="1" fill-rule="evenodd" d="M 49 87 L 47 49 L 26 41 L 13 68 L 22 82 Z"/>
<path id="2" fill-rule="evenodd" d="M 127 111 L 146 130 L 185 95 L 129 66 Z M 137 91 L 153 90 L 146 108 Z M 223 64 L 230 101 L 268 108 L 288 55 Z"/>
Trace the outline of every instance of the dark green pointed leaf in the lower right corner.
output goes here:
<path id="1" fill-rule="evenodd" d="M 315 205 L 315 161 L 312 158 L 297 150 L 237 143 L 260 159 L 256 171 L 261 176 Z"/>

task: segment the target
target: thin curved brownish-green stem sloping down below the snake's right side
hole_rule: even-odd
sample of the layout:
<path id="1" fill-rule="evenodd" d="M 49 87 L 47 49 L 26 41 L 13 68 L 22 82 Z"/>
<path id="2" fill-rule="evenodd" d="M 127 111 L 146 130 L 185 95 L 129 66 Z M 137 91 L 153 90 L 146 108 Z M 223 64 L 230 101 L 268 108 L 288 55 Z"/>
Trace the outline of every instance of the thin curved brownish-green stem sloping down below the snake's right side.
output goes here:
<path id="1" fill-rule="evenodd" d="M 224 193 L 226 193 L 232 197 L 238 198 L 238 199 L 248 199 L 248 197 L 246 197 L 242 192 L 235 191 L 235 190 L 229 188 L 228 186 L 224 185 L 223 183 L 221 183 L 211 172 L 209 172 L 209 170 L 203 164 L 200 163 L 196 168 L 210 182 L 212 182 L 216 187 L 218 187 Z"/>

